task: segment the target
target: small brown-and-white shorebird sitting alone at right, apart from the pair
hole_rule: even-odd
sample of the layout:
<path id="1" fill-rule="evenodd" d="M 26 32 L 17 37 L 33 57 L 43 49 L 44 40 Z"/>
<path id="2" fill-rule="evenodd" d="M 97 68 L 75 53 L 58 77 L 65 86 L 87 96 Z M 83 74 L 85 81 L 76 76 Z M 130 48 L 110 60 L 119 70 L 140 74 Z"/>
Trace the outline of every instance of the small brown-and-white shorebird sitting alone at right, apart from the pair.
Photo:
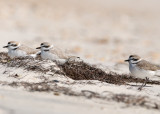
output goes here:
<path id="1" fill-rule="evenodd" d="M 146 85 L 149 78 L 153 78 L 156 75 L 156 71 L 160 70 L 160 66 L 143 60 L 138 55 L 130 55 L 129 59 L 125 60 L 125 62 L 129 62 L 129 70 L 133 76 L 146 79 L 142 87 Z"/>

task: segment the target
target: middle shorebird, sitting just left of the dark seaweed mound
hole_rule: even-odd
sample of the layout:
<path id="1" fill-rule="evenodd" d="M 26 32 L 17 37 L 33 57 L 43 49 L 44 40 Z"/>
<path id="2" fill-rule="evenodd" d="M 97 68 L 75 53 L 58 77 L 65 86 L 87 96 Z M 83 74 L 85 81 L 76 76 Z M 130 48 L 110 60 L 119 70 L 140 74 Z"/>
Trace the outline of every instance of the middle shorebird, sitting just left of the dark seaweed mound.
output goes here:
<path id="1" fill-rule="evenodd" d="M 40 44 L 40 47 L 37 47 L 36 49 L 41 50 L 41 58 L 42 59 L 49 59 L 53 61 L 57 61 L 60 64 L 65 63 L 69 59 L 76 59 L 79 57 L 76 56 L 69 56 L 65 52 L 63 52 L 61 49 L 54 47 L 48 42 L 43 42 Z"/>

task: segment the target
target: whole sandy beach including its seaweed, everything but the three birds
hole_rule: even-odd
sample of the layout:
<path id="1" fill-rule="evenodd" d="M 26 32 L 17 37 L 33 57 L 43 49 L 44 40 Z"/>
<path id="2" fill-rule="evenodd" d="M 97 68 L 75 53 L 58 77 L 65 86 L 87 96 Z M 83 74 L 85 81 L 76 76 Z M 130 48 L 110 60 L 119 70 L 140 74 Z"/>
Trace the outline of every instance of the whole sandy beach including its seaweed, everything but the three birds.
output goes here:
<path id="1" fill-rule="evenodd" d="M 159 4 L 1 0 L 0 52 L 7 52 L 2 47 L 8 41 L 34 49 L 47 41 L 83 62 L 61 66 L 0 53 L 0 114 L 159 114 L 160 77 L 139 91 L 143 80 L 130 78 L 124 62 L 138 54 L 160 65 Z"/>

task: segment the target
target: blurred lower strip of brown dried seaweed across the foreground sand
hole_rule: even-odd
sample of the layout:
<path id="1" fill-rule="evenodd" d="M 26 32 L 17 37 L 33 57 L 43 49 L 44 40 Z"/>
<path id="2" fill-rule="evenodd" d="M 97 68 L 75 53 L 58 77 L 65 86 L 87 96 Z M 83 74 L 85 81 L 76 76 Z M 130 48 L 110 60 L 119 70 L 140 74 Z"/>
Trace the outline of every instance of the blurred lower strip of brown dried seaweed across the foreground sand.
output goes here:
<path id="1" fill-rule="evenodd" d="M 159 101 L 150 99 L 146 96 L 135 96 L 135 95 L 127 95 L 127 94 L 113 94 L 103 95 L 97 92 L 82 90 L 81 92 L 73 91 L 66 87 L 59 87 L 56 83 L 51 82 L 41 82 L 41 83 L 27 83 L 27 82 L 2 82 L 1 85 L 8 85 L 12 87 L 24 87 L 28 91 L 35 92 L 53 92 L 54 95 L 65 94 L 68 96 L 76 96 L 76 97 L 85 97 L 88 99 L 99 99 L 103 100 L 103 102 L 114 101 L 121 102 L 126 105 L 126 107 L 131 106 L 139 106 L 147 109 L 157 109 L 160 110 Z"/>

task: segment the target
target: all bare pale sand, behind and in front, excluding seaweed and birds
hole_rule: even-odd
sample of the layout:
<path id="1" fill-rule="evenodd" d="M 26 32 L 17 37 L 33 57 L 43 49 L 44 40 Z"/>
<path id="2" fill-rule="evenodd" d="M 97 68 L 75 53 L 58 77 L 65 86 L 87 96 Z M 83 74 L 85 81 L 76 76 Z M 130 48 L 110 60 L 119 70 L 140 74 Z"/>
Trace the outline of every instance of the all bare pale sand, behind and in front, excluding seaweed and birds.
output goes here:
<path id="1" fill-rule="evenodd" d="M 0 0 L 0 47 L 10 40 L 20 41 L 33 48 L 48 41 L 88 62 L 98 62 L 105 66 L 123 63 L 133 53 L 160 64 L 159 4 L 159 0 Z M 6 50 L 0 48 L 0 51 Z M 119 72 L 128 73 L 127 65 L 122 66 L 123 72 Z M 9 77 L 10 74 L 3 74 L 6 69 L 11 74 L 18 72 L 19 75 L 25 75 L 25 78 Z M 23 72 L 24 69 L 15 71 L 14 68 L 1 65 L 0 80 L 39 82 L 40 79 L 34 77 L 39 73 Z M 59 77 L 55 78 L 59 80 Z M 60 80 L 66 82 L 64 78 Z M 147 95 L 160 100 L 158 86 L 139 92 L 134 87 L 99 82 L 95 84 L 97 86 L 85 84 L 69 88 L 99 93 L 112 91 Z M 53 93 L 45 92 L 31 93 L 22 88 L 0 86 L 0 114 L 158 114 L 159 111 L 142 107 L 124 108 L 117 102 L 101 103 L 91 99 L 54 96 Z"/>

